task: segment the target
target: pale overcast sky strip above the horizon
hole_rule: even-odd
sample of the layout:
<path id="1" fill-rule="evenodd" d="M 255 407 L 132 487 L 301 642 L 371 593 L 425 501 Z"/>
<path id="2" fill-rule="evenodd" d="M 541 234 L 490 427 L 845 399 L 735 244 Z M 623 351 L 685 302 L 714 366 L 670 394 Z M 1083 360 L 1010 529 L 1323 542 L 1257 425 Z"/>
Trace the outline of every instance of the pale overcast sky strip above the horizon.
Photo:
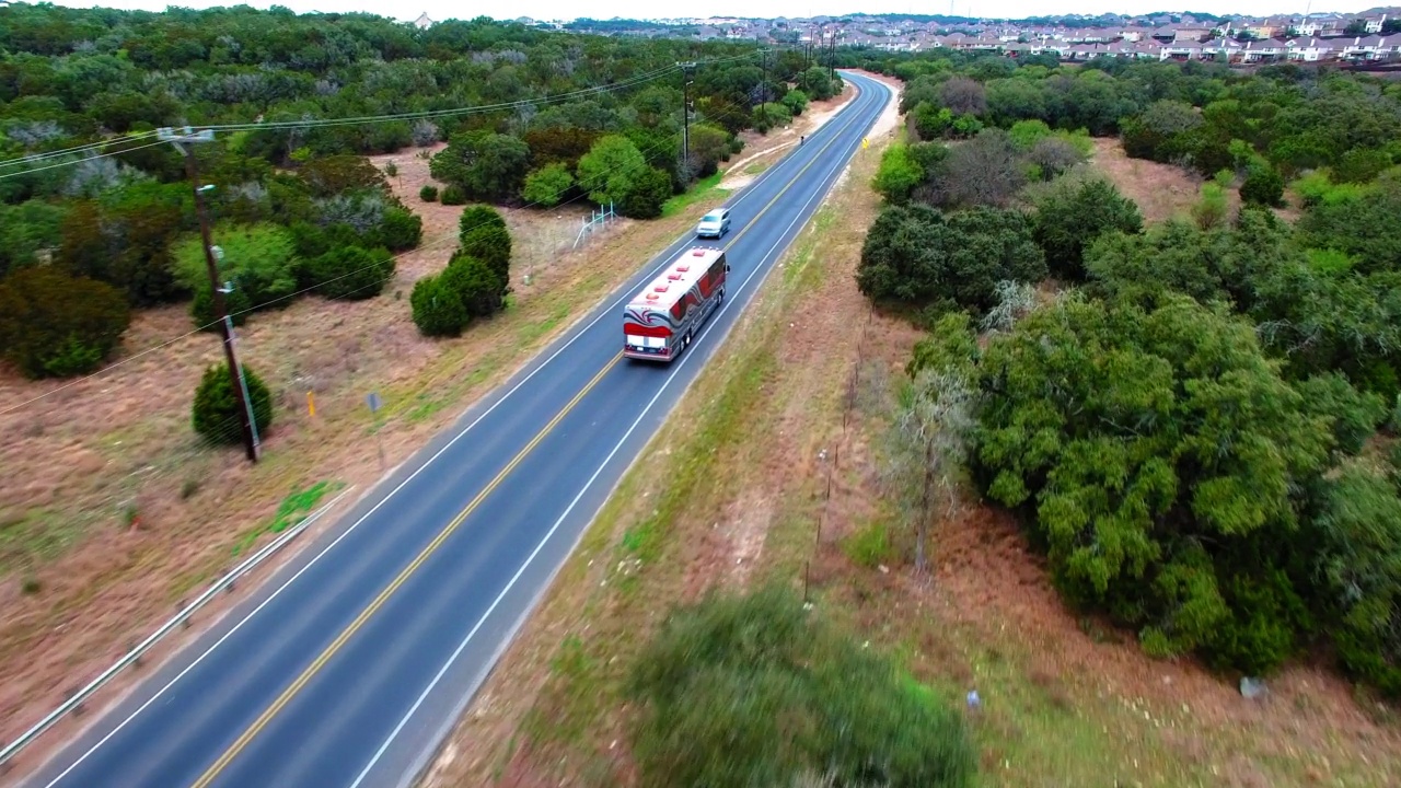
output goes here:
<path id="1" fill-rule="evenodd" d="M 1178 0 L 1181 1 L 1181 0 Z M 1182 10 L 1209 14 L 1302 14 L 1307 11 L 1338 11 L 1358 13 L 1366 8 L 1386 6 L 1386 3 L 1349 4 L 1346 0 L 1189 0 Z M 99 3 L 84 0 L 59 0 L 59 6 L 88 8 L 104 6 L 109 8 L 130 8 L 163 11 L 168 0 L 106 0 Z M 174 3 L 186 8 L 210 8 L 217 6 L 235 6 L 231 1 L 212 0 L 182 0 Z M 479 14 L 504 17 L 504 11 L 486 13 L 472 10 L 476 3 L 467 4 L 454 0 L 282 0 L 268 3 L 252 0 L 247 3 L 255 8 L 269 6 L 286 6 L 297 13 L 324 11 L 346 13 L 366 11 L 398 20 L 410 21 L 419 14 L 427 13 L 437 21 L 448 18 L 471 18 Z M 485 6 L 485 3 L 482 4 Z M 496 6 L 493 3 L 493 6 Z M 511 0 L 502 3 L 510 8 L 509 18 L 534 17 L 537 20 L 569 20 L 574 17 L 593 17 L 607 20 L 612 17 L 647 18 L 661 13 L 672 11 L 670 6 L 658 6 L 651 0 L 593 0 L 580 3 L 577 0 Z M 496 7 L 502 7 L 496 6 Z M 960 14 L 998 18 L 1024 18 L 1033 14 L 1143 14 L 1149 11 L 1175 10 L 1177 3 L 1171 0 L 709 0 L 706 3 L 678 4 L 675 8 L 686 7 L 692 14 L 744 14 L 747 17 L 814 17 L 821 14 L 850 14 L 864 11 L 869 14 L 881 13 L 916 13 L 916 14 Z M 702 11 L 703 8 L 703 11 Z"/>

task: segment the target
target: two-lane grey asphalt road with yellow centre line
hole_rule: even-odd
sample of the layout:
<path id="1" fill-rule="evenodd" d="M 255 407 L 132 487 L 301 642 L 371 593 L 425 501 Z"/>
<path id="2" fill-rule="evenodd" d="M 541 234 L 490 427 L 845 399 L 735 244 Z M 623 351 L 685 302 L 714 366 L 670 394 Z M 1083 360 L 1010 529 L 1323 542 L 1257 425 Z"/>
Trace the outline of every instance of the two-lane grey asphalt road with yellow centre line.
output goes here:
<path id="1" fill-rule="evenodd" d="M 846 79 L 850 105 L 729 202 L 726 301 L 675 362 L 622 359 L 622 303 L 689 234 L 29 784 L 412 781 L 891 100 Z"/>

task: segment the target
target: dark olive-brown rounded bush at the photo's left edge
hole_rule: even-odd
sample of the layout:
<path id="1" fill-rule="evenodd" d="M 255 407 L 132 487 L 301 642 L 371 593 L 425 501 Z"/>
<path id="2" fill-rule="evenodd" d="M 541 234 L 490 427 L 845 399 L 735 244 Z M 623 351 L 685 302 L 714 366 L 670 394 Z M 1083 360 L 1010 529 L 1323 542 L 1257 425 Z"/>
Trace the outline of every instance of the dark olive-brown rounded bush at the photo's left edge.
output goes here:
<path id="1" fill-rule="evenodd" d="M 67 377 L 97 369 L 132 320 L 126 296 L 104 282 L 49 266 L 0 282 L 0 351 L 25 377 Z"/>

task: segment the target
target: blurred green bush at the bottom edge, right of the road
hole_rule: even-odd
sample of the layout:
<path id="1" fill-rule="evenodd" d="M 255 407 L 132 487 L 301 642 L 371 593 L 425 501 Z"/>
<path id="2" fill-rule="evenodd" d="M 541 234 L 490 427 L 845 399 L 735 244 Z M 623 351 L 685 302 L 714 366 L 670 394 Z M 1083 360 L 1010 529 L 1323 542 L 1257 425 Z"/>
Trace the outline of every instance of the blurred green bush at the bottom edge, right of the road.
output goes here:
<path id="1" fill-rule="evenodd" d="M 962 719 L 792 592 L 712 592 L 672 611 L 630 666 L 629 738 L 643 787 L 954 788 L 976 774 Z"/>

